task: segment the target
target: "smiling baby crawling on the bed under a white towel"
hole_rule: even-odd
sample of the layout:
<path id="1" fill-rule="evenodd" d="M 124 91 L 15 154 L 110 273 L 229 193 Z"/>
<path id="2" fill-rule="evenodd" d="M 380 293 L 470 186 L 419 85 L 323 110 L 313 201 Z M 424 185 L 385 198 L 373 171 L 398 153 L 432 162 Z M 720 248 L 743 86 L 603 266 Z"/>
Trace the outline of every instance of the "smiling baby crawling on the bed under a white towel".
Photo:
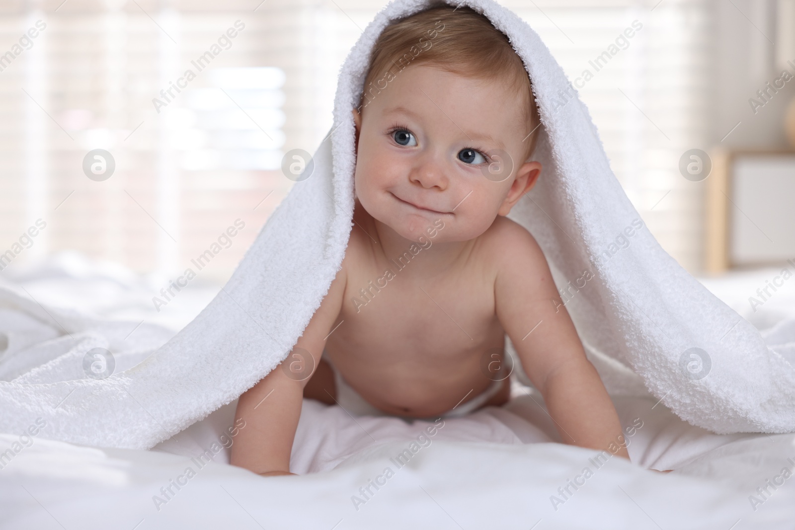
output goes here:
<path id="1" fill-rule="evenodd" d="M 249 427 L 231 463 L 290 474 L 304 397 L 405 419 L 505 404 L 506 333 L 564 443 L 622 439 L 541 248 L 506 218 L 541 173 L 507 37 L 474 10 L 426 10 L 383 31 L 364 87 L 342 266 L 292 352 L 238 400 Z"/>

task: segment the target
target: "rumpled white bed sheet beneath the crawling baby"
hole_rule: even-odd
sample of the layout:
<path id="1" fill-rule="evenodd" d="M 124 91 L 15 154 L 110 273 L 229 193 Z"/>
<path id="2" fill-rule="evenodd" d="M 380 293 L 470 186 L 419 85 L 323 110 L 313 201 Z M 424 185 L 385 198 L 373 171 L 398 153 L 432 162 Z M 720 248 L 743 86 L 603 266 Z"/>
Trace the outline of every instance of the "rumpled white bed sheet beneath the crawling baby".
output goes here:
<path id="1" fill-rule="evenodd" d="M 763 285 L 769 273 L 704 283 L 742 309 L 750 296 L 746 292 L 759 281 Z M 148 307 L 157 281 L 76 253 L 11 269 L 0 281 L 24 286 L 42 304 L 133 324 L 160 323 L 175 333 L 219 288 L 185 289 L 157 312 Z M 755 319 L 760 329 L 795 315 L 795 296 L 778 294 L 775 304 L 771 299 L 766 308 L 741 314 Z M 795 526 L 795 479 L 781 478 L 784 468 L 795 471 L 793 434 L 715 435 L 685 423 L 662 404 L 615 398 L 622 424 L 629 427 L 639 419 L 643 426 L 630 437 L 633 463 L 609 458 L 597 469 L 589 460 L 596 451 L 552 443 L 558 436 L 541 397 L 515 382 L 512 396 L 505 407 L 445 420 L 428 437 L 429 445 L 411 453 L 402 467 L 394 458 L 416 448 L 412 441 L 429 424 L 354 418 L 338 406 L 304 400 L 291 459 L 299 477 L 262 478 L 228 465 L 229 451 L 220 446 L 233 423 L 235 401 L 151 451 L 80 447 L 37 437 L 0 469 L 0 528 Z M 0 451 L 14 441 L 13 435 L 0 435 Z M 213 461 L 198 466 L 197 456 L 213 443 L 220 447 L 210 453 Z M 181 489 L 171 486 L 174 494 L 166 499 L 161 487 L 184 476 L 188 466 L 196 477 L 183 478 L 187 483 Z M 360 493 L 386 466 L 394 477 L 378 490 L 370 486 L 371 497 Z M 592 476 L 584 478 L 585 467 Z M 645 468 L 675 471 L 658 474 Z M 578 475 L 584 485 L 575 489 L 568 481 Z M 783 483 L 773 489 L 768 480 Z M 571 494 L 560 493 L 567 486 Z"/>

